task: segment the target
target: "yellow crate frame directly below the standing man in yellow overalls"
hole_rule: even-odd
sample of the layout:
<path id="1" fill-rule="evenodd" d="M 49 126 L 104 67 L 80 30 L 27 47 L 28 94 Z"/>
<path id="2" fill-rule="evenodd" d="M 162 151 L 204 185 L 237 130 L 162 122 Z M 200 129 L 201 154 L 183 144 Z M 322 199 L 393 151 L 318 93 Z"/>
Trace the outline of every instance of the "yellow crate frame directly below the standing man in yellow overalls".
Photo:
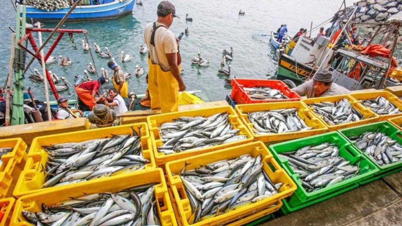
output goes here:
<path id="1" fill-rule="evenodd" d="M 162 140 L 160 140 L 160 134 L 159 134 L 159 126 L 162 123 L 165 122 L 172 122 L 173 119 L 178 119 L 178 117 L 181 116 L 190 116 L 190 117 L 195 117 L 195 116 L 211 116 L 215 115 L 217 113 L 223 113 L 227 112 L 229 113 L 229 121 L 233 125 L 234 129 L 240 129 L 239 134 L 241 135 L 246 135 L 247 139 L 245 140 L 239 140 L 236 142 L 230 142 L 227 144 L 220 144 L 217 146 L 212 146 L 209 148 L 201 148 L 197 150 L 188 150 L 185 152 L 178 152 L 174 154 L 164 154 L 161 152 L 158 152 L 158 147 L 162 146 Z M 148 121 L 148 126 L 150 128 L 150 133 L 151 133 L 151 139 L 152 139 L 152 145 L 153 145 L 153 150 L 154 150 L 154 155 L 155 155 L 155 161 L 156 164 L 158 164 L 159 167 L 163 167 L 166 162 L 173 161 L 176 159 L 180 158 L 186 158 L 189 156 L 194 156 L 197 154 L 202 154 L 206 152 L 211 152 L 213 150 L 220 150 L 222 148 L 227 148 L 227 147 L 232 147 L 232 146 L 237 146 L 239 144 L 245 144 L 248 142 L 252 142 L 254 139 L 248 129 L 246 128 L 245 125 L 243 125 L 242 121 L 234 111 L 234 109 L 230 106 L 222 106 L 222 107 L 211 107 L 211 108 L 204 108 L 204 109 L 197 109 L 197 110 L 190 110 L 190 111 L 179 111 L 179 112 L 173 112 L 173 113 L 165 113 L 165 114 L 160 114 L 160 115 L 151 115 L 147 117 Z"/>

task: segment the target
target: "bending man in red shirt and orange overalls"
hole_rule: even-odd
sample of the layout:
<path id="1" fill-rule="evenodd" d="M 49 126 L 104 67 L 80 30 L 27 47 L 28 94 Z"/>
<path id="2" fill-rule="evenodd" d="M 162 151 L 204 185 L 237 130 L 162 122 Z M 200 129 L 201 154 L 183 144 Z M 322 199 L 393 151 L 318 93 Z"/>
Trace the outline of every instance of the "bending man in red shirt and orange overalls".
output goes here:
<path id="1" fill-rule="evenodd" d="M 98 80 L 82 82 L 78 86 L 75 86 L 78 98 L 80 98 L 80 100 L 88 106 L 91 111 L 98 101 L 95 98 L 95 95 L 100 97 L 99 87 L 103 84 L 105 84 L 105 77 L 101 76 Z"/>

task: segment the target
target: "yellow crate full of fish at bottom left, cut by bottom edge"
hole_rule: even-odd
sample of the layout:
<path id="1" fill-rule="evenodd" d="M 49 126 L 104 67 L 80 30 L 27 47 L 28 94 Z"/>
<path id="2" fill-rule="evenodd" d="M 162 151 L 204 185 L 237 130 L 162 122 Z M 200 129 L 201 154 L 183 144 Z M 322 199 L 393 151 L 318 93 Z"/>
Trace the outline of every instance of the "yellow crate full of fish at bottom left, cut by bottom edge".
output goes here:
<path id="1" fill-rule="evenodd" d="M 39 223 L 38 223 L 39 222 Z M 90 185 L 20 197 L 11 225 L 176 226 L 163 171 L 149 169 L 96 180 Z"/>

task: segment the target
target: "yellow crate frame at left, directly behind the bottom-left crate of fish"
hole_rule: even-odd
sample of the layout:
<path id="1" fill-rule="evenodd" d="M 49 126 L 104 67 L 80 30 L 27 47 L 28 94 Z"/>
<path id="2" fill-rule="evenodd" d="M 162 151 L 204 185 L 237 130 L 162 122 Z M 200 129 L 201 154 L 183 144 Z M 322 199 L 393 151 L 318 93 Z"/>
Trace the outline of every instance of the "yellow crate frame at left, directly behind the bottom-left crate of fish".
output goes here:
<path id="1" fill-rule="evenodd" d="M 140 173 L 149 168 L 156 168 L 154 156 L 152 154 L 151 138 L 149 136 L 148 126 L 146 123 L 135 123 L 130 125 L 120 125 L 114 127 L 107 127 L 102 129 L 90 129 L 85 131 L 76 131 L 65 134 L 56 134 L 50 136 L 37 137 L 33 140 L 31 148 L 28 153 L 27 164 L 25 164 L 24 171 L 21 173 L 18 182 L 15 186 L 14 196 L 21 197 L 31 193 L 37 193 L 40 191 L 57 190 L 61 187 L 68 187 L 69 185 L 61 185 L 57 187 L 49 187 L 41 189 L 43 183 L 45 183 L 45 171 L 43 167 L 48 161 L 49 155 L 43 150 L 42 146 L 51 144 L 59 144 L 65 142 L 82 142 L 86 140 L 92 140 L 96 138 L 111 137 L 119 134 L 131 134 L 132 128 L 141 135 L 142 154 L 144 158 L 150 160 L 143 170 L 135 171 L 134 173 Z M 141 131 L 138 130 L 141 128 Z M 112 135 L 113 134 L 113 135 Z M 117 177 L 117 176 L 112 176 Z M 89 185 L 92 181 L 101 180 L 93 179 L 90 181 L 84 181 L 77 183 Z"/>

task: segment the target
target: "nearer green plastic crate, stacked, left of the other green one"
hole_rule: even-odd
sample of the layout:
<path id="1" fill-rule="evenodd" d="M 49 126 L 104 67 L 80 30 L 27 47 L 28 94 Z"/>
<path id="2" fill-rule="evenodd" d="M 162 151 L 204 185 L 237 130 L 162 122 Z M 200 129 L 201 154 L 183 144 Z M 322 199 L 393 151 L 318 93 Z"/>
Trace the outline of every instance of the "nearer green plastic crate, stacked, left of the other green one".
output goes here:
<path id="1" fill-rule="evenodd" d="M 324 142 L 329 142 L 331 144 L 338 144 L 339 156 L 345 158 L 346 160 L 351 162 L 351 164 L 359 162 L 359 167 L 361 168 L 360 171 L 361 174 L 352 177 L 350 179 L 347 179 L 345 181 L 342 181 L 340 183 L 337 183 L 335 185 L 332 185 L 330 187 L 325 187 L 318 191 L 307 192 L 301 186 L 301 180 L 299 179 L 299 174 L 294 173 L 288 164 L 288 160 L 279 157 L 278 154 L 282 152 L 295 151 L 299 148 L 308 145 L 319 145 Z M 279 144 L 273 144 L 269 146 L 269 150 L 271 151 L 277 162 L 281 164 L 282 168 L 285 169 L 285 171 L 289 174 L 289 176 L 293 179 L 293 181 L 295 181 L 297 185 L 297 190 L 295 191 L 295 193 L 293 193 L 291 197 L 289 197 L 287 201 L 287 203 L 293 208 L 296 208 L 310 201 L 314 201 L 323 197 L 324 199 L 328 199 L 334 196 L 333 195 L 334 193 L 340 194 L 353 188 L 359 187 L 358 183 L 359 181 L 365 180 L 367 177 L 371 177 L 374 173 L 377 173 L 379 171 L 379 168 L 375 166 L 373 162 L 368 160 L 366 156 L 361 154 L 350 142 L 347 141 L 346 138 L 344 138 L 338 132 L 330 132 L 327 134 L 320 134 L 308 138 L 301 138 Z"/>

